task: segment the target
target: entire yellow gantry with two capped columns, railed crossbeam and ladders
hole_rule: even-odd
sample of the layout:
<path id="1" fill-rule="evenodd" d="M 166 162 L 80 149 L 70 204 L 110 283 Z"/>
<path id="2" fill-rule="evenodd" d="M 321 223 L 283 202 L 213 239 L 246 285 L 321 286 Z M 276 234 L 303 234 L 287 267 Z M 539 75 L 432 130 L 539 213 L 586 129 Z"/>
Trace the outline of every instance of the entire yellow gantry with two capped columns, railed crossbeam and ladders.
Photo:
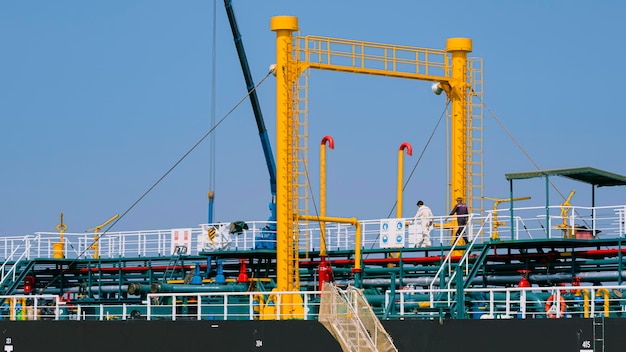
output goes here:
<path id="1" fill-rule="evenodd" d="M 308 201 L 305 182 L 299 179 L 305 168 L 302 163 L 307 161 L 303 151 L 308 143 L 304 90 L 308 81 L 299 81 L 309 69 L 434 82 L 451 103 L 449 204 L 460 196 L 472 208 L 472 200 L 482 199 L 474 191 L 482 192 L 482 162 L 476 160 L 482 156 L 476 157 L 481 153 L 476 153 L 477 148 L 472 145 L 482 142 L 482 130 L 472 127 L 474 119 L 482 118 L 482 104 L 474 104 L 472 99 L 482 94 L 477 89 L 482 86 L 482 63 L 475 67 L 474 61 L 468 60 L 471 39 L 450 38 L 445 50 L 436 50 L 303 37 L 294 35 L 299 28 L 298 19 L 293 16 L 272 17 L 270 29 L 276 33 L 277 290 L 299 290 L 298 218 L 312 219 L 302 211 L 308 207 L 299 204 Z M 480 130 L 478 136 L 475 130 Z M 480 177 L 480 182 L 472 181 L 475 176 Z M 401 209 L 401 204 L 398 207 Z"/>

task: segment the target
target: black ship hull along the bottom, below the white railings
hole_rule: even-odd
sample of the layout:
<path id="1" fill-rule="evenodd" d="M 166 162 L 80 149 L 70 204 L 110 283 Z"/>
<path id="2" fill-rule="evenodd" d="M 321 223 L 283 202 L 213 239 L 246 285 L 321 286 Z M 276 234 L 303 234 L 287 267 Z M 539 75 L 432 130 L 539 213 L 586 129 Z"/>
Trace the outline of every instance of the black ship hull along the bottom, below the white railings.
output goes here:
<path id="1" fill-rule="evenodd" d="M 619 351 L 626 320 L 384 321 L 400 352 Z M 317 321 L 5 321 L 4 351 L 341 352 Z M 603 346 L 603 349 L 600 347 Z"/>

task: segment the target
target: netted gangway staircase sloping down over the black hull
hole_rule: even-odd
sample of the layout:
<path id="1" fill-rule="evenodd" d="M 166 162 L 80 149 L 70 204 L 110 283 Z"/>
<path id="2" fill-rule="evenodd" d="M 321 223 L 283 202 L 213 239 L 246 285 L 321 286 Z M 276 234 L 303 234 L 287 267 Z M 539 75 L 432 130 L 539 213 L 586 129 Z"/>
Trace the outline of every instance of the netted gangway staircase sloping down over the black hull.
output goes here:
<path id="1" fill-rule="evenodd" d="M 325 283 L 319 321 L 339 342 L 344 352 L 397 352 L 391 337 L 372 311 L 361 290 L 346 291 Z"/>

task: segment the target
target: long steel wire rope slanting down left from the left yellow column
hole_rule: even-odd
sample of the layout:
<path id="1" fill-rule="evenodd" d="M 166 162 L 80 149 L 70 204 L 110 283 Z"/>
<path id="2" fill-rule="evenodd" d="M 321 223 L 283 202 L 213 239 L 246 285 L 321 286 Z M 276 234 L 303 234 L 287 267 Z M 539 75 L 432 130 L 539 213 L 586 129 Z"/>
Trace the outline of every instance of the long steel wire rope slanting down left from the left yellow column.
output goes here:
<path id="1" fill-rule="evenodd" d="M 187 156 L 189 156 L 189 154 L 191 154 L 191 152 L 193 152 L 209 135 L 211 135 L 213 133 L 213 131 L 215 131 L 215 129 L 222 123 L 224 122 L 224 120 L 226 120 L 226 118 L 228 118 L 238 107 L 239 105 L 241 105 L 249 96 L 250 94 L 252 94 L 253 91 L 255 91 L 259 86 L 261 86 L 261 84 L 263 84 L 263 82 L 273 73 L 272 70 L 270 70 L 265 77 L 263 77 L 263 79 L 261 79 L 259 81 L 258 84 L 256 84 L 252 89 L 250 89 L 246 95 L 244 95 L 226 114 L 224 114 L 224 116 L 213 126 L 211 127 L 185 154 L 183 154 L 183 156 L 181 156 L 175 163 L 174 165 L 172 165 L 159 179 L 156 180 L 156 182 L 154 182 L 152 184 L 152 186 L 150 186 L 148 188 L 147 191 L 145 191 L 131 206 L 129 206 L 123 213 L 122 215 L 118 216 L 117 219 L 115 219 L 115 221 L 113 221 L 102 233 L 98 234 L 96 238 L 94 238 L 94 240 L 90 243 L 89 246 L 86 246 L 85 249 L 78 253 L 78 255 L 76 256 L 75 259 L 73 259 L 72 261 L 70 261 L 67 264 L 67 268 L 66 269 L 61 269 L 61 271 L 54 276 L 47 284 L 46 286 L 44 286 L 40 292 L 45 292 L 45 290 L 50 287 L 51 284 L 53 284 L 63 273 L 65 273 L 70 266 L 72 266 L 74 263 L 76 263 L 78 261 L 78 258 L 82 257 L 90 248 L 93 247 L 93 245 L 98 242 L 102 237 L 104 237 L 110 230 L 111 228 L 113 228 L 113 226 L 115 226 L 120 220 L 122 220 L 133 208 L 135 208 L 135 206 L 137 206 L 137 204 L 139 204 L 139 202 L 141 202 L 150 192 L 152 192 L 152 190 L 154 188 L 156 188 L 157 185 L 159 185 L 159 183 L 161 183 L 161 181 L 163 181 L 165 179 L 165 177 L 167 177 L 172 171 L 174 171 L 174 169 L 176 167 L 178 167 L 178 165 L 180 165 L 180 163 L 183 162 L 183 160 L 185 160 L 187 158 Z"/>

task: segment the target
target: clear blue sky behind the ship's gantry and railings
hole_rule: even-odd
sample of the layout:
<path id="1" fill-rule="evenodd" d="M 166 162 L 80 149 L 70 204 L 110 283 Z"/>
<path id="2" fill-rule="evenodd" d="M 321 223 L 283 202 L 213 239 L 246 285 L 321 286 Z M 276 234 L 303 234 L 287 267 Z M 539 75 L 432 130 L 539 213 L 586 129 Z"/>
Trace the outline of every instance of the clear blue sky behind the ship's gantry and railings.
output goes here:
<path id="1" fill-rule="evenodd" d="M 542 168 L 593 166 L 626 174 L 621 140 L 626 56 L 621 1 L 252 1 L 235 13 L 255 81 L 274 62 L 270 17 L 299 18 L 300 33 L 443 49 L 472 38 L 484 59 L 485 103 Z M 0 3 L 0 235 L 83 232 L 123 213 L 210 128 L 212 1 L 33 0 Z M 246 92 L 224 5 L 216 4 L 215 117 Z M 275 82 L 259 88 L 275 148 Z M 419 81 L 313 72 L 311 178 L 328 152 L 332 216 L 387 217 L 396 198 L 397 150 L 417 161 L 445 106 Z M 196 227 L 215 219 L 265 220 L 267 170 L 250 104 L 217 129 L 214 170 L 207 140 L 113 230 Z M 445 129 L 435 132 L 404 195 L 404 215 L 423 199 L 446 213 Z M 533 164 L 485 111 L 485 195 L 508 197 L 504 173 Z M 518 196 L 543 204 L 543 182 Z M 520 183 L 521 185 L 521 183 Z M 589 189 L 562 183 L 572 203 Z M 537 191 L 538 189 L 538 191 Z M 535 192 L 535 193 L 533 193 Z M 533 194 L 531 194 L 533 193 Z M 626 190 L 600 189 L 599 204 Z M 537 197 L 535 197 L 537 196 Z M 490 203 L 487 203 L 490 207 Z M 527 203 L 530 205 L 530 203 Z M 395 214 L 395 212 L 394 212 Z"/>

